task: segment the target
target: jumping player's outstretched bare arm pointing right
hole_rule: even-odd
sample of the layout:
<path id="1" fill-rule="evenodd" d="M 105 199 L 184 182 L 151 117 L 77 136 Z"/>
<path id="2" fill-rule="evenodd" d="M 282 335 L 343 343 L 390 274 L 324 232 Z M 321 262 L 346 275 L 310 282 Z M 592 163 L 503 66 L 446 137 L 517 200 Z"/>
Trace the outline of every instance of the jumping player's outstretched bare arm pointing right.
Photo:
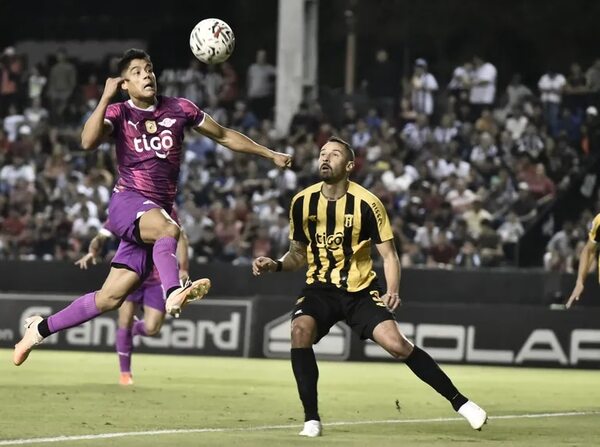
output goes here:
<path id="1" fill-rule="evenodd" d="M 273 163 L 280 168 L 289 167 L 292 163 L 292 157 L 290 155 L 272 151 L 271 149 L 256 143 L 244 134 L 229 129 L 228 127 L 223 127 L 209 115 L 204 116 L 204 121 L 200 126 L 196 127 L 195 130 L 232 151 L 260 155 L 261 157 L 272 160 Z"/>

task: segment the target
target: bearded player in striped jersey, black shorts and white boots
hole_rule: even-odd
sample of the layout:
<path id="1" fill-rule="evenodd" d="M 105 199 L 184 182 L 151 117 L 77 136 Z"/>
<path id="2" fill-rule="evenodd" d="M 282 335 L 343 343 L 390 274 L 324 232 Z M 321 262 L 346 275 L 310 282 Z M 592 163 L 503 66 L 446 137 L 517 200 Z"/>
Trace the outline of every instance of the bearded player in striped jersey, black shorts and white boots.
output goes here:
<path id="1" fill-rule="evenodd" d="M 308 265 L 306 286 L 292 311 L 292 369 L 304 407 L 301 436 L 320 436 L 319 371 L 312 345 L 338 321 L 371 339 L 444 396 L 479 430 L 487 414 L 454 386 L 429 354 L 399 330 L 393 311 L 400 305 L 400 262 L 385 208 L 371 192 L 349 180 L 354 151 L 332 137 L 319 154 L 321 182 L 302 190 L 290 209 L 290 248 L 280 259 L 258 257 L 252 270 L 297 270 Z M 371 246 L 383 258 L 386 289 L 373 271 Z"/>

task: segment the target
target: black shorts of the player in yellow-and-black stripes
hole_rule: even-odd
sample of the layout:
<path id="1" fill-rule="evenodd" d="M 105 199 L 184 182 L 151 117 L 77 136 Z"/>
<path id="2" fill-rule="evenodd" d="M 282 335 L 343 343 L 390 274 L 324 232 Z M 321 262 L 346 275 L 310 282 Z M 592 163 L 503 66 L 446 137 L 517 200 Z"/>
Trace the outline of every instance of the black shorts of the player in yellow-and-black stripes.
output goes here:
<path id="1" fill-rule="evenodd" d="M 311 284 L 302 290 L 292 311 L 292 320 L 309 315 L 317 321 L 317 343 L 339 321 L 344 321 L 361 339 L 373 339 L 375 327 L 394 314 L 383 304 L 376 280 L 359 292 L 347 292 L 329 284 Z"/>

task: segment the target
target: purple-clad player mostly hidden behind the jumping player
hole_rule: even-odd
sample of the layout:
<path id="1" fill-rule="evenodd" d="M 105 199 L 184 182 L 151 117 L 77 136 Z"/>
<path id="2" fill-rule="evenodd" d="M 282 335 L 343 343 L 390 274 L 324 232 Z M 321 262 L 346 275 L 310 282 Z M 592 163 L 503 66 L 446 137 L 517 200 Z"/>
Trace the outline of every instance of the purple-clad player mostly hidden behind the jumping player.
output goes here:
<path id="1" fill-rule="evenodd" d="M 171 217 L 179 223 L 175 209 Z M 114 235 L 106 229 L 106 224 L 90 242 L 88 252 L 75 262 L 81 269 L 87 270 L 90 264 L 95 265 L 96 259 L 102 252 L 107 239 Z M 188 239 L 185 231 L 181 230 L 177 245 L 177 261 L 179 262 L 179 279 L 185 284 L 189 279 Z M 144 310 L 144 319 L 135 318 L 138 308 Z M 135 320 L 135 321 L 134 321 Z M 165 320 L 165 292 L 160 283 L 156 268 L 144 280 L 142 285 L 119 307 L 118 328 L 115 348 L 119 356 L 119 383 L 133 385 L 131 373 L 131 357 L 133 355 L 133 337 L 153 336 L 160 332 Z"/>

